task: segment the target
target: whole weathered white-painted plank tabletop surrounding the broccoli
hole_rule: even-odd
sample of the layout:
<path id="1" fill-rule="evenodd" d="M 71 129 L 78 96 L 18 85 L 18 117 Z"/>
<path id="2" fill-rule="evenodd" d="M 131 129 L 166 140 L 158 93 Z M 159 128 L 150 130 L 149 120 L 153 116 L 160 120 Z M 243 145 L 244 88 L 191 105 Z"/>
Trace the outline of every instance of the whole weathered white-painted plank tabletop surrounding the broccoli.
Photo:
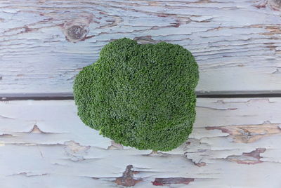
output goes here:
<path id="1" fill-rule="evenodd" d="M 0 0 L 0 184 L 280 187 L 281 1 Z M 171 152 L 81 123 L 72 81 L 111 40 L 167 41 L 200 65 L 197 119 Z"/>

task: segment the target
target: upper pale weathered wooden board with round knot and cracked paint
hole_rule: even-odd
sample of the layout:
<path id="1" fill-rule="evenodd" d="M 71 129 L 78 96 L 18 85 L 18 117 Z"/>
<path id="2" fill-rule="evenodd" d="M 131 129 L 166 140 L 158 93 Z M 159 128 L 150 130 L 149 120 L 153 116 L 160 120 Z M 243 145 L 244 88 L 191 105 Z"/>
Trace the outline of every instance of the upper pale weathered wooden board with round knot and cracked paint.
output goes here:
<path id="1" fill-rule="evenodd" d="M 0 95 L 72 93 L 79 70 L 124 36 L 188 48 L 201 93 L 281 91 L 280 0 L 0 1 Z"/>

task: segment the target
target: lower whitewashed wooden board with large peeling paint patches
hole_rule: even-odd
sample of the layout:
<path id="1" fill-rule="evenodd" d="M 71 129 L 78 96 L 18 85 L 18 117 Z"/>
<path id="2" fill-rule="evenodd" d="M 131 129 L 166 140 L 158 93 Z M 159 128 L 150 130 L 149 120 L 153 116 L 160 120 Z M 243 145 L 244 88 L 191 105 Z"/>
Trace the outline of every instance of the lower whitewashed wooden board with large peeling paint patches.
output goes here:
<path id="1" fill-rule="evenodd" d="M 84 126 L 72 100 L 0 102 L 0 184 L 280 187 L 280 109 L 281 98 L 200 98 L 187 142 L 151 154 Z"/>

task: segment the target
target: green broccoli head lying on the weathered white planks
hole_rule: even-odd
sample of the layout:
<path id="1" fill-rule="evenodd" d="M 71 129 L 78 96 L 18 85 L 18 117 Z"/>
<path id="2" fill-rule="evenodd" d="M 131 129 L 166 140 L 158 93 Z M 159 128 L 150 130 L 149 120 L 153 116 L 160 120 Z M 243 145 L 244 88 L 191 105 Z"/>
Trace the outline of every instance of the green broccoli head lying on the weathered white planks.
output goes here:
<path id="1" fill-rule="evenodd" d="M 77 74 L 74 100 L 81 121 L 105 137 L 169 151 L 192 131 L 198 79 L 197 62 L 182 46 L 123 38 Z"/>

